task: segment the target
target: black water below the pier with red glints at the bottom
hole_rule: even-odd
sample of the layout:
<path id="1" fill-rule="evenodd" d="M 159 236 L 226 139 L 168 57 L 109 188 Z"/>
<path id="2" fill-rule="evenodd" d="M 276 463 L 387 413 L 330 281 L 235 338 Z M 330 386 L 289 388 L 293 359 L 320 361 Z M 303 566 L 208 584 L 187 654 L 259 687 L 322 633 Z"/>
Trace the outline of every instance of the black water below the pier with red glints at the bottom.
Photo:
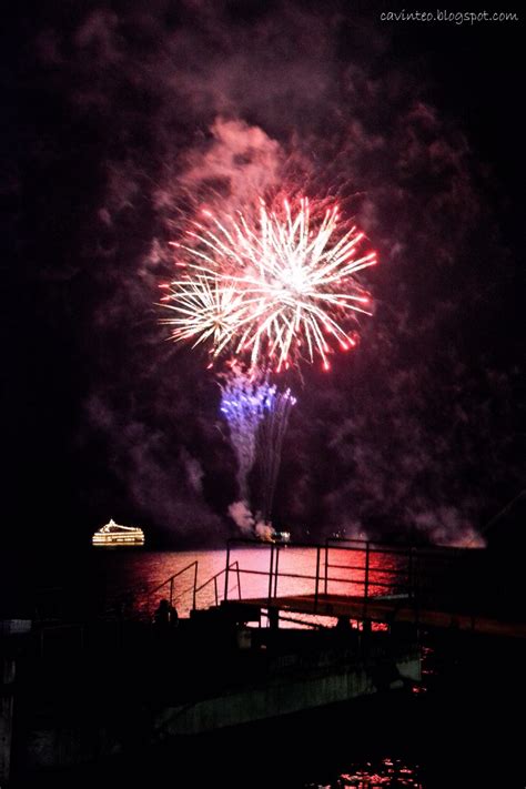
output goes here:
<path id="1" fill-rule="evenodd" d="M 419 687 L 155 747 L 135 739 L 90 766 L 31 775 L 18 765 L 13 786 L 524 787 L 523 644 L 425 640 Z"/>

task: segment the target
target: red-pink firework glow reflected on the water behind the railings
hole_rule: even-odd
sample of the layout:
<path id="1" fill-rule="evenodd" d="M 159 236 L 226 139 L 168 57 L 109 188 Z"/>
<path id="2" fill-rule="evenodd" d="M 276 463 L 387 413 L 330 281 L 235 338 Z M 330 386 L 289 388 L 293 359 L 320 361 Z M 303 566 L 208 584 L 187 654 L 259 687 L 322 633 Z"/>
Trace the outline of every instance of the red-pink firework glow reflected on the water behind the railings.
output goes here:
<path id="1" fill-rule="evenodd" d="M 224 550 L 141 552 L 98 554 L 100 577 L 110 605 L 125 598 L 135 611 L 151 611 L 161 597 L 169 596 L 170 584 L 152 590 L 174 574 L 174 603 L 182 616 L 193 606 L 193 563 L 198 562 L 196 607 L 215 605 L 225 595 Z M 236 547 L 230 554 L 229 598 L 267 597 L 270 594 L 305 595 L 326 591 L 334 595 L 396 594 L 404 588 L 405 557 L 372 554 L 368 573 L 365 552 L 331 548 L 327 554 L 314 548 L 270 545 Z M 277 567 L 277 573 L 275 571 Z M 188 568 L 188 569 L 184 569 Z M 274 570 L 272 581 L 270 570 Z M 316 583 L 317 575 L 317 583 Z M 209 583 L 206 583 L 209 581 Z"/>

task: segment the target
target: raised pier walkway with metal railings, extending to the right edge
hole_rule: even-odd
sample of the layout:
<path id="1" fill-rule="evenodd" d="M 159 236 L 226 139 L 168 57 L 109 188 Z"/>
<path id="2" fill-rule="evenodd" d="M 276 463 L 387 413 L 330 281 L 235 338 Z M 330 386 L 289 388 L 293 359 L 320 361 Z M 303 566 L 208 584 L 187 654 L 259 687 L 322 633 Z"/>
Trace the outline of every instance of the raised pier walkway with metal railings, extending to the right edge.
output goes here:
<path id="1" fill-rule="evenodd" d="M 280 557 L 286 546 L 279 544 L 269 548 L 267 571 L 239 567 L 239 563 L 230 566 L 230 550 L 239 542 L 229 544 L 224 605 L 229 605 L 229 578 L 234 575 L 239 599 L 230 603 L 247 610 L 526 638 L 522 601 L 502 597 L 490 588 L 495 573 L 488 568 L 486 550 L 327 539 L 323 545 L 302 546 L 316 552 L 315 571 L 297 575 L 281 569 Z M 378 563 L 385 557 L 392 566 Z M 241 576 L 260 574 L 267 579 L 266 596 L 242 598 Z M 312 586 L 312 591 L 280 594 L 287 579 L 301 579 Z"/>

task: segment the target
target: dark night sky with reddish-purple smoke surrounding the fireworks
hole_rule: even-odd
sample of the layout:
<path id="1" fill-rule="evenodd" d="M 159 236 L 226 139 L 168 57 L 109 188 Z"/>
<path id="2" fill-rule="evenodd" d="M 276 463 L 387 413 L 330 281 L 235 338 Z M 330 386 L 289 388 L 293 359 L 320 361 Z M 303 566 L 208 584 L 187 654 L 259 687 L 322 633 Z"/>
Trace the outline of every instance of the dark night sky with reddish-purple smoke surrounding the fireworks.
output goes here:
<path id="1" fill-rule="evenodd" d="M 277 523 L 469 539 L 525 487 L 524 13 L 384 10 L 61 0 L 3 26 L 4 534 L 233 529 L 218 385 L 154 306 L 212 188 L 337 194 L 381 257 L 358 350 L 295 384 Z"/>

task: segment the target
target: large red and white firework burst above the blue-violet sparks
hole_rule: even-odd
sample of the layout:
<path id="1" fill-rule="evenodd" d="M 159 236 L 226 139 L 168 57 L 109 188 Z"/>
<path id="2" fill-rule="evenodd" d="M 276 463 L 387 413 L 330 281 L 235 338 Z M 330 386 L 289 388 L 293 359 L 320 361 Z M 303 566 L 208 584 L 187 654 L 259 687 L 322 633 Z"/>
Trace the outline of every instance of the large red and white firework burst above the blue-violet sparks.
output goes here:
<path id="1" fill-rule="evenodd" d="M 193 222 L 188 243 L 174 243 L 182 275 L 162 285 L 164 320 L 176 342 L 205 343 L 253 370 L 280 372 L 320 357 L 330 368 L 335 348 L 356 345 L 371 299 L 360 271 L 376 254 L 360 254 L 363 233 L 341 220 L 337 205 L 287 200 L 257 212 L 212 214 Z"/>

